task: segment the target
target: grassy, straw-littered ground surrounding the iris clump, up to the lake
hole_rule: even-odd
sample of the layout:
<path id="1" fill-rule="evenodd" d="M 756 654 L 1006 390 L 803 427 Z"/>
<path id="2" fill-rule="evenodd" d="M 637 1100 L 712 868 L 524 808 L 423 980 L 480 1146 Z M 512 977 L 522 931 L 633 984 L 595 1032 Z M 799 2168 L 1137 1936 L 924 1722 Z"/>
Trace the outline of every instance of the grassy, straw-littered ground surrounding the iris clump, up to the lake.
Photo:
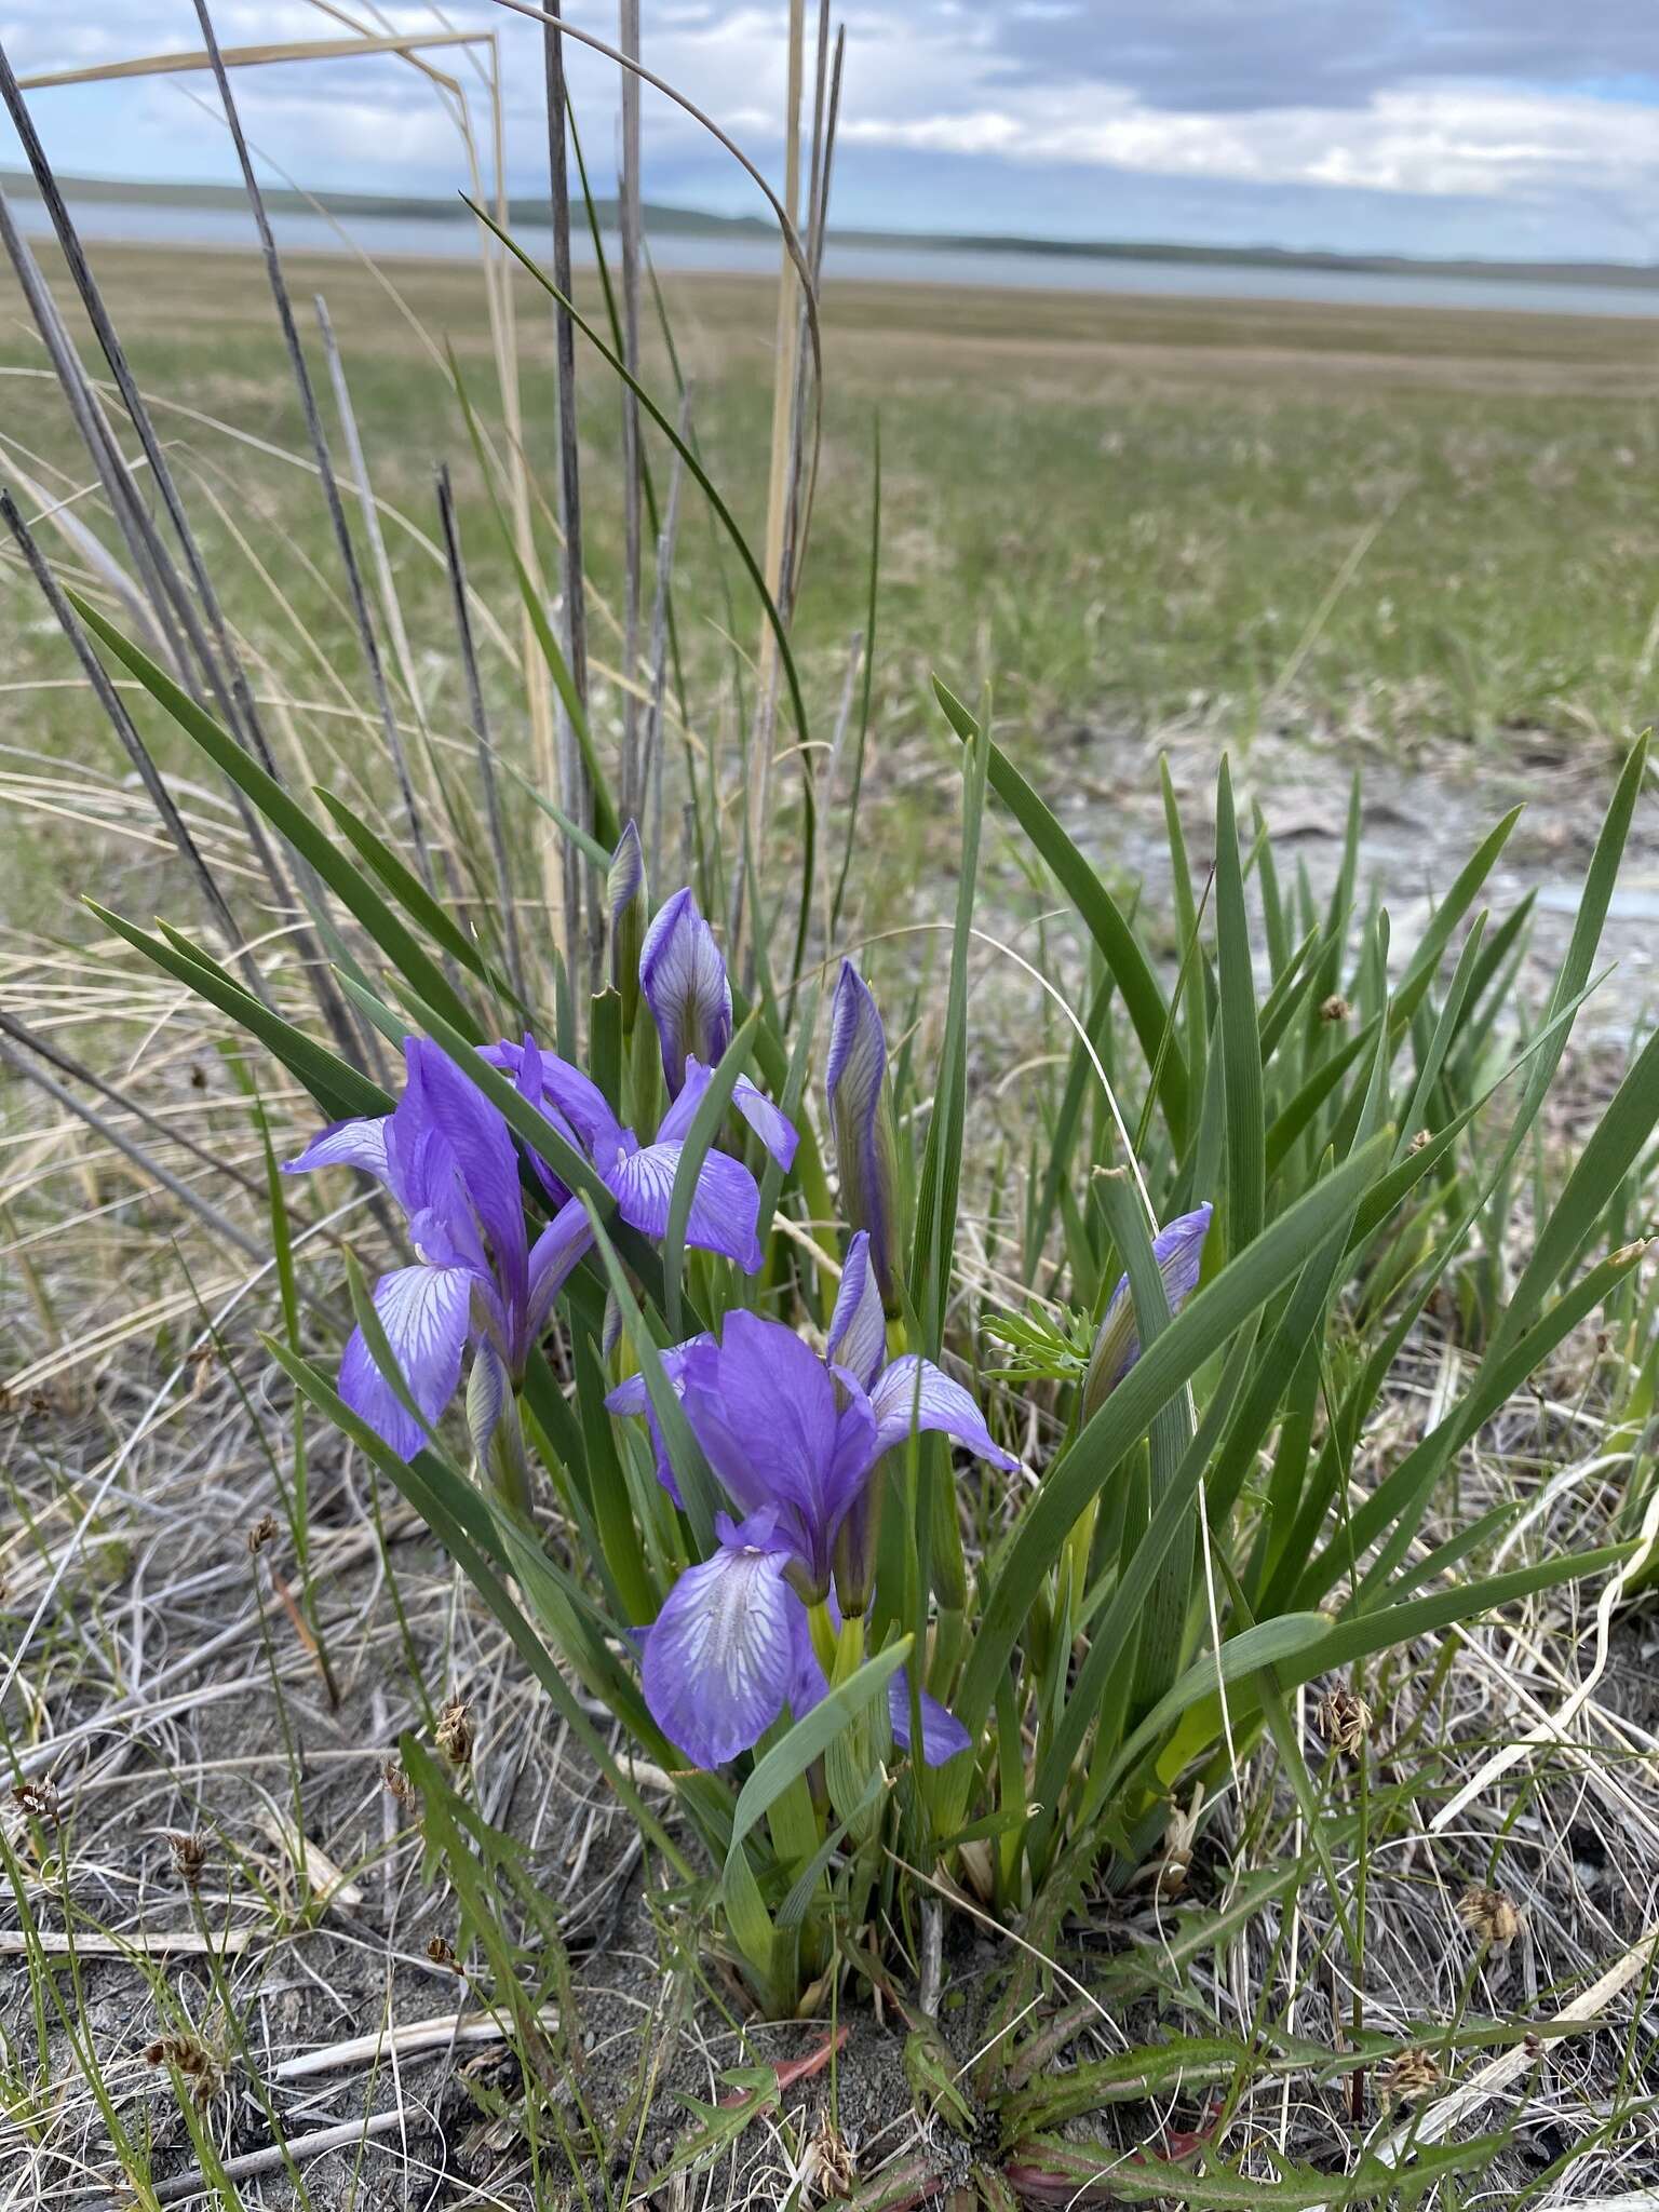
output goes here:
<path id="1" fill-rule="evenodd" d="M 175 440 L 283 765 L 296 785 L 325 779 L 394 821 L 316 487 L 294 462 L 303 425 L 259 270 L 208 254 L 95 259 Z M 447 577 L 411 533 L 436 538 L 434 462 L 456 469 L 471 580 L 507 641 L 515 615 L 442 358 L 367 272 L 294 259 L 288 276 L 301 301 L 327 292 L 387 509 L 411 668 L 440 757 L 460 774 Z M 453 343 L 500 431 L 476 274 L 394 265 L 389 279 L 420 330 Z M 759 538 L 774 292 L 668 276 L 664 294 L 699 451 Z M 526 449 L 546 484 L 551 330 L 526 283 L 515 305 Z M 1360 852 L 1383 876 L 1396 947 L 1416 942 L 1429 894 L 1447 889 L 1451 865 L 1515 796 L 1537 796 L 1542 821 L 1511 841 L 1482 889 L 1493 936 L 1524 894 L 1557 878 L 1577 887 L 1655 692 L 1659 323 L 845 285 L 827 296 L 823 336 L 823 469 L 794 624 L 818 743 L 867 619 L 876 418 L 883 445 L 849 945 L 951 911 L 962 772 L 931 670 L 964 699 L 991 686 L 998 741 L 1121 880 L 1126 902 L 1144 898 L 1137 927 L 1170 975 L 1181 933 L 1159 743 L 1199 891 L 1223 745 L 1241 783 L 1270 801 L 1276 836 L 1263 849 L 1294 936 L 1301 865 L 1318 911 L 1336 874 L 1354 761 L 1387 801 L 1367 807 Z M 646 363 L 653 389 L 670 394 L 659 338 Z M 73 513 L 84 462 L 4 290 L 0 367 L 0 476 L 22 469 Z M 615 664 L 622 606 L 617 502 L 606 498 L 617 425 L 611 378 L 584 365 L 602 668 Z M 661 445 L 653 471 L 661 493 Z M 546 529 L 542 540 L 546 557 Z M 55 551 L 84 573 L 77 546 Z M 675 575 L 688 734 L 730 754 L 757 622 L 690 484 Z M 845 1997 L 845 2044 L 841 2013 L 757 2026 L 730 1969 L 701 1953 L 708 1885 L 675 1880 L 641 1843 L 389 1484 L 294 1411 L 259 1332 L 288 1329 L 332 1363 L 349 1325 L 336 1241 L 378 1250 L 376 1230 L 338 1186 L 327 1186 L 332 1212 L 314 1188 L 290 1186 L 299 1281 L 316 1303 L 288 1318 L 259 1243 L 250 1254 L 226 1241 L 226 1219 L 265 1234 L 265 1152 L 246 1077 L 215 1048 L 226 1026 L 77 907 L 93 891 L 139 922 L 161 909 L 195 927 L 188 887 L 11 557 L 0 560 L 0 1011 L 153 1117 L 104 1099 L 108 1126 L 91 1130 L 0 1073 L 0 1646 L 15 1637 L 24 1659 L 0 1703 L 0 1747 L 22 1792 L 0 1814 L 0 2208 L 75 2192 L 102 2203 L 137 2174 L 157 2208 L 208 2188 L 226 2205 L 314 2212 L 619 2212 L 650 2192 L 664 2208 L 794 2208 L 847 2185 L 865 2190 L 865 2212 L 896 2212 L 978 2174 L 980 2201 L 1006 2212 L 1013 2183 L 993 2194 L 995 2177 L 973 2163 L 995 2137 L 989 2106 L 973 2106 L 967 2132 L 918 2119 L 900 2068 L 909 1962 L 936 1922 L 894 1909 L 852 1931 L 874 1973 Z M 482 672 L 502 752 L 529 759 L 509 655 L 489 637 Z M 204 843 L 241 869 L 239 896 L 259 911 L 221 792 L 128 697 Z M 394 697 L 405 719 L 400 677 Z M 615 708 L 604 677 L 597 697 L 604 721 Z M 779 790 L 776 838 L 790 847 L 790 781 Z M 1655 849 L 1650 807 L 1644 787 L 1637 867 L 1624 878 L 1637 891 Z M 518 858 L 538 830 L 515 807 Z M 1057 1004 L 1026 989 L 991 940 L 1004 936 L 1055 998 L 1079 1013 L 1088 1004 L 1079 942 L 1053 922 L 1053 885 L 995 810 L 980 885 L 956 1254 L 969 1327 L 975 1314 L 1022 1312 L 1037 1281 L 1060 1294 L 1062 1259 L 1022 1265 L 1020 1179 L 1053 1137 L 1062 1077 L 1077 1066 Z M 1365 993 L 1383 987 L 1363 949 L 1374 940 L 1367 896 L 1360 883 L 1343 918 L 1352 936 L 1338 931 L 1334 949 L 1358 1013 L 1329 1015 L 1332 1037 L 1347 1035 L 1340 1022 L 1358 1029 Z M 533 896 L 522 920 L 549 929 Z M 270 916 L 272 933 L 288 922 Z M 1551 958 L 1566 927 L 1540 916 Z M 1416 1310 L 1374 1416 L 1343 1438 L 1332 1542 L 1471 1389 L 1537 1223 L 1624 1073 L 1646 929 L 1639 907 L 1624 920 L 1615 911 L 1604 956 L 1626 958 L 1617 1013 L 1595 1029 L 1599 1044 L 1575 1051 L 1517 1166 Z M 907 1006 L 905 987 L 929 964 L 942 978 L 933 945 L 918 938 L 885 969 L 918 1128 L 933 1106 L 938 1009 Z M 1480 973 L 1467 1031 L 1444 1013 L 1442 978 L 1402 1044 L 1407 1095 L 1442 1015 L 1455 1042 L 1442 1088 L 1422 1093 L 1425 1121 L 1438 1126 L 1478 1086 L 1513 1040 L 1515 1006 L 1535 998 L 1540 969 L 1509 969 L 1500 953 Z M 299 1020 L 292 967 L 281 987 Z M 1283 1033 L 1292 1044 L 1267 1055 L 1276 1110 L 1290 1108 L 1303 1062 L 1316 1071 L 1327 1057 L 1312 1006 Z M 1124 1037 L 1115 1011 L 1099 1037 L 1110 1060 Z M 288 1150 L 316 1119 L 310 1102 L 272 1062 L 252 1068 Z M 1442 1232 L 1438 1208 L 1453 1219 L 1460 1190 L 1484 1188 L 1502 1110 L 1495 1133 L 1475 1124 L 1447 1155 L 1433 1203 L 1343 1292 L 1327 1363 L 1298 1380 L 1296 1411 L 1252 1458 L 1250 1513 L 1267 1513 L 1281 1453 L 1294 1475 L 1296 1422 L 1305 1416 L 1303 1451 L 1310 1436 L 1323 1444 L 1329 1407 L 1358 1391 L 1378 1329 Z M 1084 1124 L 1077 1157 L 1110 1157 L 1095 1106 Z M 1148 1137 L 1148 1152 L 1159 1146 Z M 1212 1166 L 1219 1148 L 1217 1135 Z M 159 1190 L 148 1157 L 184 1188 Z M 192 1194 L 217 1210 L 217 1228 L 190 1212 Z M 1644 1150 L 1595 1230 L 1624 1241 L 1650 1223 Z M 823 1237 L 827 1223 L 794 1230 Z M 1075 1296 L 1099 1228 L 1068 1214 L 1053 1248 Z M 1597 1243 L 1586 1265 L 1599 1259 Z M 1425 1590 L 1635 1533 L 1652 1498 L 1652 1307 L 1650 1270 L 1610 1283 L 1535 1383 L 1517 1383 L 1460 1442 L 1402 1568 L 1422 1568 Z M 1042 1312 L 1055 1318 L 1051 1303 Z M 980 1352 L 993 1367 L 998 1347 Z M 1018 1429 L 1042 1467 L 1060 1427 L 1053 1378 L 984 1383 L 1004 1431 Z M 1203 1387 L 1219 1389 L 1214 1374 Z M 962 1495 L 978 1562 L 1006 1500 L 967 1484 Z M 1234 1564 L 1245 1568 L 1243 1551 Z M 1055 1971 L 1031 1969 L 1024 1984 L 1015 1973 L 1029 2008 L 1013 2020 L 1000 1929 L 1020 1916 L 989 1874 L 978 1880 L 998 1832 L 975 1838 L 978 1858 L 940 1860 L 945 2070 L 989 2099 L 982 2062 L 998 2053 L 998 2172 L 1015 2177 L 1022 2203 L 1148 2201 L 1146 2177 L 1137 2183 L 1121 2161 L 1150 2152 L 1190 2174 L 1166 2177 L 1161 2201 L 1194 2208 L 1312 2212 L 1363 2197 L 1425 2212 L 1650 2212 L 1659 1688 L 1650 1613 L 1637 1604 L 1597 1621 L 1604 1588 L 1528 1590 L 1495 1621 L 1442 1624 L 1365 1668 L 1298 1683 L 1276 1732 L 1245 1741 L 1237 1772 L 1206 1767 L 1203 1823 L 1192 1803 L 1183 1825 L 1183 1798 L 1161 1836 L 1141 1838 L 1139 1867 L 1128 1871 L 1126 1854 L 1108 1882 L 1062 1885 L 1064 1909 L 1029 1924 Z M 1084 1650 L 1079 1637 L 1079 1663 Z M 9 1657 L 0 1648 L 0 1674 Z M 1332 1688 L 1363 1694 L 1369 1732 L 1347 1739 L 1340 1708 L 1318 1719 Z M 469 1708 L 471 1763 L 434 1763 L 418 1805 L 407 1776 L 389 1787 L 385 1767 L 403 1730 L 436 1739 L 449 1699 Z M 588 1719 L 611 1730 L 602 1708 Z M 606 1743 L 619 1750 L 622 1732 Z M 672 1781 L 630 1772 L 670 1818 Z M 1522 1922 L 1475 1907 L 1471 1931 L 1471 1889 L 1504 1891 Z M 752 2070 L 730 2075 L 741 2066 Z M 1066 2148 L 1084 2115 L 1086 2146 Z M 1042 2148 L 1022 2166 L 1024 2141 Z M 1119 2168 L 1110 2179 L 1102 2141 Z M 1365 2179 L 1367 2146 L 1447 2163 L 1400 2188 L 1371 2172 L 1365 2194 L 1354 2177 Z M 1285 2159 L 1303 2179 L 1274 2197 L 1270 2174 Z M 1307 2179 L 1314 2168 L 1329 2194 Z M 557 2179 L 571 2172 L 580 2179 Z"/>

